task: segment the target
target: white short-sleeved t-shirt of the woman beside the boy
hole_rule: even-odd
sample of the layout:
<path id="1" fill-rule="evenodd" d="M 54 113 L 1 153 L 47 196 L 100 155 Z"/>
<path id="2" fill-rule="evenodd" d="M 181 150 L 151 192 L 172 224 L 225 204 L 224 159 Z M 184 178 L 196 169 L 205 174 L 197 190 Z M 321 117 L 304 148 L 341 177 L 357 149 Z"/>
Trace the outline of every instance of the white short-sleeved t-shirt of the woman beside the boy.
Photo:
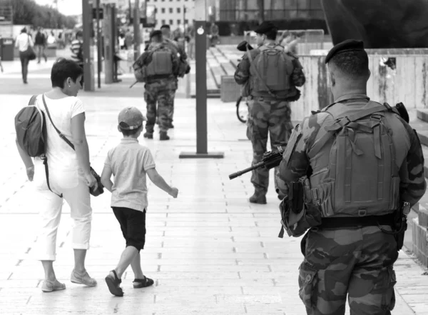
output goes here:
<path id="1" fill-rule="evenodd" d="M 75 96 L 67 96 L 63 99 L 49 99 L 45 96 L 45 101 L 56 128 L 73 144 L 71 119 L 85 112 L 82 101 Z M 37 97 L 36 105 L 45 113 L 47 131 L 46 157 L 48 158 L 49 178 L 55 179 L 56 184 L 62 188 L 76 187 L 78 185 L 79 171 L 76 152 L 66 144 L 66 141 L 60 138 L 54 126 L 52 126 L 41 96 Z"/>

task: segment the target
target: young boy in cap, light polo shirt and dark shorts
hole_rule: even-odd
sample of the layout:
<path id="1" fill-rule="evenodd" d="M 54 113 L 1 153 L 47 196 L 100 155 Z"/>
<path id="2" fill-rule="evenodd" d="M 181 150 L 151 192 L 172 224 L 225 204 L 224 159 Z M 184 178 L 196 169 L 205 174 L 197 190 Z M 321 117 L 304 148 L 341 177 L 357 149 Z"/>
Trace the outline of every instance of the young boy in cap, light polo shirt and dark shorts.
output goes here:
<path id="1" fill-rule="evenodd" d="M 101 183 L 111 191 L 111 208 L 121 224 L 126 249 L 115 269 L 106 276 L 111 294 L 123 296 L 120 287 L 123 272 L 131 264 L 136 279 L 134 288 L 153 284 L 141 271 L 140 251 L 146 241 L 147 185 L 146 174 L 156 186 L 177 198 L 178 189 L 170 187 L 156 171 L 151 151 L 138 144 L 146 118 L 136 107 L 126 107 L 118 116 L 118 130 L 123 134 L 121 143 L 108 151 Z M 111 175 L 114 176 L 114 184 Z"/>

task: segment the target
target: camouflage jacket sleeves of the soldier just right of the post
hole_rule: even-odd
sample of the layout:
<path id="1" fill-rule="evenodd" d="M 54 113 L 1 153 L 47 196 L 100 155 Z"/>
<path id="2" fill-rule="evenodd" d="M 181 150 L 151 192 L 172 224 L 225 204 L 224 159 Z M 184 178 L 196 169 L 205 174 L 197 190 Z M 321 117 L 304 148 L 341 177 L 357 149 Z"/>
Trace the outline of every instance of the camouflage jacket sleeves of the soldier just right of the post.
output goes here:
<path id="1" fill-rule="evenodd" d="M 251 57 L 253 57 L 253 60 L 255 59 L 258 54 L 260 54 L 259 49 L 253 49 L 250 51 Z M 294 66 L 294 69 L 292 71 L 291 75 L 291 84 L 293 86 L 303 86 L 305 84 L 306 78 L 305 74 L 303 73 L 302 65 L 300 64 L 299 59 L 297 59 L 296 56 L 287 53 L 287 56 L 290 56 L 292 59 L 292 64 Z M 235 81 L 236 83 L 242 85 L 245 84 L 248 79 L 250 79 L 250 59 L 248 59 L 248 54 L 245 54 L 243 56 L 243 59 L 238 64 L 238 69 L 235 71 Z"/>

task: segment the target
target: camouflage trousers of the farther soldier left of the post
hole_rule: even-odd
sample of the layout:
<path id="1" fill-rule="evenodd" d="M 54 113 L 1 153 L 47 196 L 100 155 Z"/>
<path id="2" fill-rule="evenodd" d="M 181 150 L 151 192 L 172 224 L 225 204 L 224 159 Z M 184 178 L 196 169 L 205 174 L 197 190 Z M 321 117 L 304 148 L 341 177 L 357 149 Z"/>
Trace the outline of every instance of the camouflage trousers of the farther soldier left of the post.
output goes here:
<path id="1" fill-rule="evenodd" d="M 156 123 L 156 112 L 158 113 L 159 129 L 168 131 L 169 116 L 175 90 L 177 89 L 175 80 L 155 81 L 145 85 L 144 100 L 147 104 L 147 124 L 146 131 L 153 134 Z M 158 110 L 156 111 L 156 104 Z"/>

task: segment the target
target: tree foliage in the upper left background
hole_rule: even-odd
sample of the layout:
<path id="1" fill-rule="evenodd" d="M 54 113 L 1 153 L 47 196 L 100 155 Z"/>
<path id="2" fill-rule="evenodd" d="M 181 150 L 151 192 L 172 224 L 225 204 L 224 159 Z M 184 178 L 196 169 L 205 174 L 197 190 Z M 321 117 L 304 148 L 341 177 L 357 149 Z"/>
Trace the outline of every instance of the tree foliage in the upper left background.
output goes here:
<path id="1" fill-rule="evenodd" d="M 14 24 L 31 24 L 46 29 L 73 29 L 76 20 L 49 6 L 40 6 L 34 0 L 13 0 Z"/>

